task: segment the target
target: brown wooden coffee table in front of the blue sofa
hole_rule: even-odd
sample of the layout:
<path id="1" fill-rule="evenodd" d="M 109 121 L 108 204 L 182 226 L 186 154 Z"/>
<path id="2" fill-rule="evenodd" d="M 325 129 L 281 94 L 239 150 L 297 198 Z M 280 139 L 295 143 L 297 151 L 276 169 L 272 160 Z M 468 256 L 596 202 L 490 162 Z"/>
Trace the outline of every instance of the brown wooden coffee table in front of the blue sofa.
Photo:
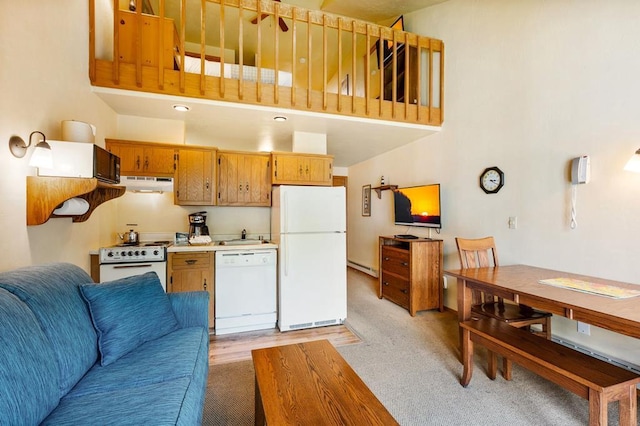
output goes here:
<path id="1" fill-rule="evenodd" d="M 328 340 L 251 351 L 255 424 L 397 425 Z"/>

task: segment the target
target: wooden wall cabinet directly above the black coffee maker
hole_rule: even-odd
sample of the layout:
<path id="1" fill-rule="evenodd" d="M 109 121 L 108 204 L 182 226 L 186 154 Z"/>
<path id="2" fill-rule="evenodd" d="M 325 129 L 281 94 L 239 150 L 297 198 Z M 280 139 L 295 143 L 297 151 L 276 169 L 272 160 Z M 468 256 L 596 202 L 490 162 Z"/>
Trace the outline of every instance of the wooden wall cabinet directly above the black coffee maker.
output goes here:
<path id="1" fill-rule="evenodd" d="M 215 157 L 210 148 L 178 150 L 174 181 L 174 204 L 182 206 L 215 205 Z"/>

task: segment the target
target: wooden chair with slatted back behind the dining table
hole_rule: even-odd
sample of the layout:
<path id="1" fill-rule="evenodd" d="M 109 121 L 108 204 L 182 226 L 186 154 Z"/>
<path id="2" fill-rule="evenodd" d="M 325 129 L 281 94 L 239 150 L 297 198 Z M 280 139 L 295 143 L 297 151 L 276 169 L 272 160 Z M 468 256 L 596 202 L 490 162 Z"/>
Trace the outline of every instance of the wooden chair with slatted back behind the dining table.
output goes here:
<path id="1" fill-rule="evenodd" d="M 463 269 L 499 266 L 498 252 L 493 237 L 478 239 L 456 238 L 460 265 Z M 471 315 L 489 317 L 505 322 L 517 328 L 532 331 L 531 326 L 540 324 L 541 332 L 536 332 L 551 339 L 550 312 L 539 311 L 530 306 L 505 303 L 501 297 L 487 292 L 474 291 L 472 294 Z M 503 358 L 503 375 L 511 380 L 511 361 Z"/>

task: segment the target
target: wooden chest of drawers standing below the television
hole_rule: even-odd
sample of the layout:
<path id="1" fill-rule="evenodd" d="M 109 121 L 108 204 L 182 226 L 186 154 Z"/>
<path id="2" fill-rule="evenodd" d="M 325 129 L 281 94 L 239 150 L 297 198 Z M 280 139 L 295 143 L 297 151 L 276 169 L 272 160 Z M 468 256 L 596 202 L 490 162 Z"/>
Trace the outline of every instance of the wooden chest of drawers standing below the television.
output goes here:
<path id="1" fill-rule="evenodd" d="M 378 297 L 409 310 L 444 310 L 442 240 L 380 237 Z"/>

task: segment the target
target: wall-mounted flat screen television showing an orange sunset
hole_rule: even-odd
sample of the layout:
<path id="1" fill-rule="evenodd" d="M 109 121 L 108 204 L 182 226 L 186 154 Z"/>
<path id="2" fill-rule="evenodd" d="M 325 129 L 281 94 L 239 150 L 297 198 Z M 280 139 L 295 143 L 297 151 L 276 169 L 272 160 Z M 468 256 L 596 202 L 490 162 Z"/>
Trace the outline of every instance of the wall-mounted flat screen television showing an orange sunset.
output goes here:
<path id="1" fill-rule="evenodd" d="M 393 191 L 393 209 L 396 225 L 442 228 L 440 184 L 397 188 Z"/>

